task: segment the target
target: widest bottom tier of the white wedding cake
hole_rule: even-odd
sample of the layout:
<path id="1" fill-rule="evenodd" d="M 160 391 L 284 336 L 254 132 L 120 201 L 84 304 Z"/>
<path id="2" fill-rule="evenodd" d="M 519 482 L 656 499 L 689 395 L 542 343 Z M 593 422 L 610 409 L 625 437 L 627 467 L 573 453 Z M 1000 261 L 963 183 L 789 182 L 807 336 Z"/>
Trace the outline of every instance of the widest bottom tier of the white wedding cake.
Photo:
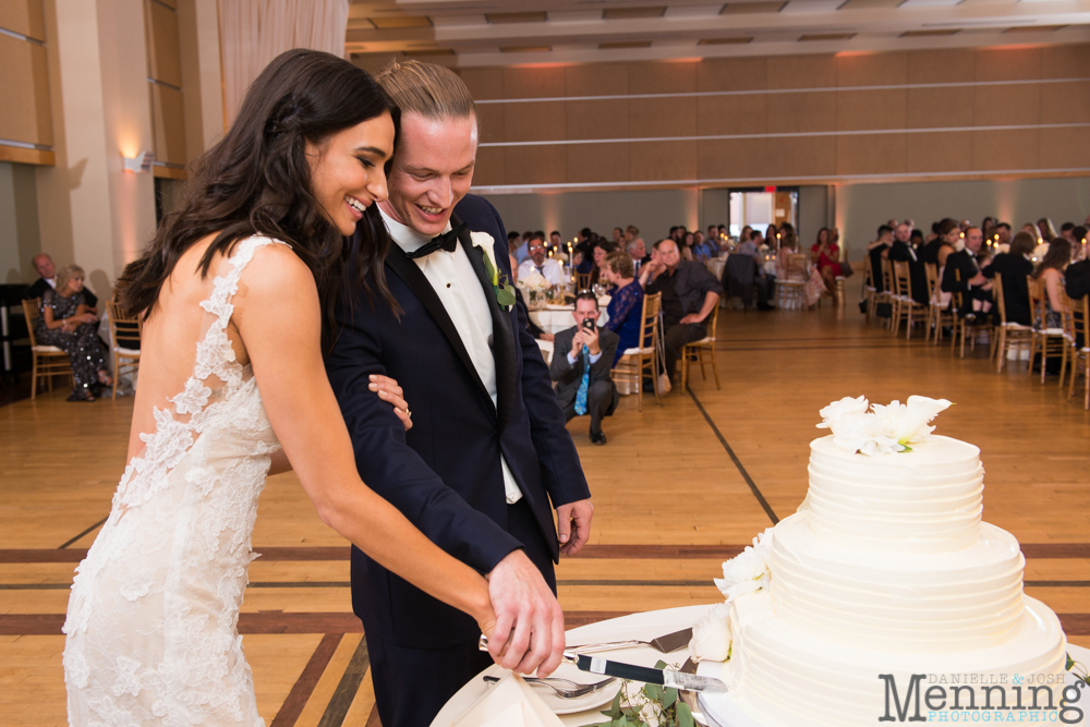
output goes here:
<path id="1" fill-rule="evenodd" d="M 1001 705 L 998 686 L 1006 706 L 1058 707 L 1067 641 L 1059 619 L 1039 601 L 1024 598 L 1025 611 L 1018 626 L 1002 644 L 945 654 L 896 653 L 844 646 L 798 630 L 775 616 L 765 592 L 742 596 L 731 608 L 734 646 L 729 662 L 701 664 L 700 674 L 720 677 L 730 688 L 727 695 L 702 695 L 707 712 L 727 715 L 740 711 L 761 727 L 881 726 L 892 716 L 900 723 L 896 702 L 908 708 L 905 718 L 916 716 L 916 694 L 909 698 L 912 675 L 924 675 L 916 683 L 920 716 L 937 720 L 935 713 L 957 705 Z M 889 675 L 883 679 L 880 675 Z M 1030 686 L 1041 687 L 1036 692 Z M 930 691 L 932 687 L 942 692 Z M 894 699 L 896 694 L 896 700 Z M 927 696 L 931 695 L 929 705 Z M 887 706 L 888 699 L 888 706 Z M 985 699 L 990 699 L 986 702 Z M 729 701 L 730 704 L 727 704 Z M 907 703 L 907 705 L 906 705 Z M 934 706 L 935 708 L 930 708 Z M 1028 710 L 1007 710 L 1004 715 Z M 1032 714 L 1032 712 L 1030 712 Z M 959 715 L 960 716 L 960 715 Z M 1029 716 L 1029 715 L 1026 715 Z"/>

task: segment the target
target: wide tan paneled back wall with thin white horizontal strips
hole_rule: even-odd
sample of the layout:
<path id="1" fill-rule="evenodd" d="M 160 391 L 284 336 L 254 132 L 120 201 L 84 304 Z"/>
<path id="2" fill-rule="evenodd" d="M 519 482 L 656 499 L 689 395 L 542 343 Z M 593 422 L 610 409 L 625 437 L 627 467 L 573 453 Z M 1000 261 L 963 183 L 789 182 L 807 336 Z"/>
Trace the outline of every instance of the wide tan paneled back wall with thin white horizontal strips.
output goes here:
<path id="1" fill-rule="evenodd" d="M 495 191 L 1090 170 L 1090 44 L 459 73 Z"/>

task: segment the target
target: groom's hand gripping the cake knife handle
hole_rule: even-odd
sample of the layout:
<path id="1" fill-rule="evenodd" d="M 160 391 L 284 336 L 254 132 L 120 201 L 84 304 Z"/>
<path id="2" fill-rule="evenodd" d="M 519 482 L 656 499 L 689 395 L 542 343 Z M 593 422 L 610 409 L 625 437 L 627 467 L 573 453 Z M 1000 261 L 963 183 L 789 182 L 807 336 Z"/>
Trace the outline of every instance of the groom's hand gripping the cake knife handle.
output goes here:
<path id="1" fill-rule="evenodd" d="M 553 674 L 564 654 L 564 611 L 537 567 L 522 550 L 509 553 L 488 573 L 488 594 L 496 611 L 493 659 L 519 674 Z"/>

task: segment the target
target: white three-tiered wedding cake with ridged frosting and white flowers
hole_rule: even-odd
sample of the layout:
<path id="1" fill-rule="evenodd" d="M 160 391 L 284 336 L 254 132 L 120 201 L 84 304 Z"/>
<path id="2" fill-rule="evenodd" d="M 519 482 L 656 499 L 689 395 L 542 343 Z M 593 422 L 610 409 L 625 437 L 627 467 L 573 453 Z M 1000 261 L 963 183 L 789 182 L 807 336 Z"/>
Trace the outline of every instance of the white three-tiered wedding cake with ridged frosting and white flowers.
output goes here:
<path id="1" fill-rule="evenodd" d="M 727 604 L 694 631 L 699 673 L 730 689 L 702 695 L 713 718 L 969 722 L 971 706 L 1007 720 L 1034 699 L 1059 706 L 1059 620 L 1022 593 L 1018 541 L 981 522 L 980 450 L 931 436 L 948 405 L 868 411 L 860 397 L 822 410 L 833 435 L 810 445 L 806 501 L 724 564 Z"/>

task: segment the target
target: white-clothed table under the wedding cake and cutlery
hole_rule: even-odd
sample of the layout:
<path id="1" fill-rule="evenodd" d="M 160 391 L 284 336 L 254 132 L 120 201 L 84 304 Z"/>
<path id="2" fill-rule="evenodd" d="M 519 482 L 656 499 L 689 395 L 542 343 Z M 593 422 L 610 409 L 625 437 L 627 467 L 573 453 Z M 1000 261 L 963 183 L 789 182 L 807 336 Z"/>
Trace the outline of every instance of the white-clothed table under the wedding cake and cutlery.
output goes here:
<path id="1" fill-rule="evenodd" d="M 598 621 L 597 623 L 590 623 L 577 629 L 570 629 L 566 633 L 566 641 L 569 645 L 607 641 L 625 641 L 630 639 L 651 641 L 652 639 L 667 633 L 690 628 L 703 618 L 713 605 L 714 604 L 703 604 L 698 606 L 682 606 L 680 608 L 665 608 L 663 610 L 631 614 L 629 616 L 621 616 L 620 618 Z M 1090 649 L 1068 644 L 1067 652 L 1076 662 L 1090 665 Z M 662 659 L 671 667 L 680 667 L 689 658 L 689 652 L 687 649 L 681 649 L 671 654 L 661 654 L 651 646 L 639 646 L 634 649 L 600 652 L 596 653 L 595 656 L 626 662 L 628 664 L 638 664 L 640 666 L 654 666 L 659 659 Z M 571 669 L 572 671 L 564 673 L 562 670 L 565 669 Z M 457 719 L 460 714 L 464 713 L 470 706 L 473 705 L 474 702 L 484 696 L 489 689 L 488 684 L 484 681 L 484 677 L 500 677 L 506 674 L 508 674 L 507 669 L 493 664 L 491 667 L 471 679 L 469 683 L 462 687 L 453 696 L 450 698 L 446 705 L 444 705 L 439 714 L 437 714 L 435 719 L 432 720 L 432 727 L 448 727 L 448 725 Z M 584 683 L 590 683 L 601 678 L 597 675 L 576 671 L 574 667 L 567 665 L 561 665 L 555 676 L 571 678 L 572 674 L 577 676 L 576 681 Z M 1074 683 L 1074 676 L 1068 673 L 1066 683 Z M 1083 727 L 1090 727 L 1090 708 L 1087 708 L 1087 704 L 1085 702 L 1080 703 L 1078 706 L 1083 710 L 1086 716 L 1077 724 L 1083 725 Z M 582 727 L 582 725 L 601 724 L 604 722 L 605 717 L 603 717 L 601 713 L 603 708 L 605 708 L 605 706 L 594 706 L 583 712 L 561 714 L 558 716 L 565 727 Z M 719 727 L 759 727 L 759 725 L 753 723 L 747 716 L 739 714 L 736 715 L 736 718 L 729 724 L 720 725 Z"/>

